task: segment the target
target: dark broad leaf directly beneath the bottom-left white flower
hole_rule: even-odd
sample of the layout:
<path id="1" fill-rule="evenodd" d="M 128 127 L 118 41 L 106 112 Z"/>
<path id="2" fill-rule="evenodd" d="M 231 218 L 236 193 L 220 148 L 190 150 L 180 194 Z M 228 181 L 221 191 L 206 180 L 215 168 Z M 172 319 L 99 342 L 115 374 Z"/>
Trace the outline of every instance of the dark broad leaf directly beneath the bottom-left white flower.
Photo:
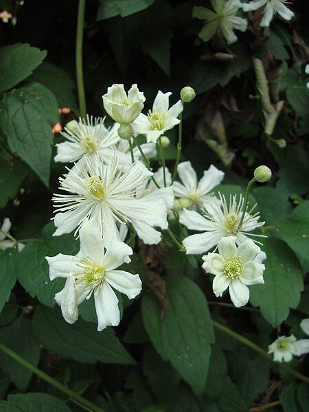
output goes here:
<path id="1" fill-rule="evenodd" d="M 112 328 L 102 332 L 96 325 L 79 319 L 73 325 L 66 323 L 58 308 L 36 308 L 34 333 L 50 352 L 81 363 L 124 363 L 134 365 Z"/>

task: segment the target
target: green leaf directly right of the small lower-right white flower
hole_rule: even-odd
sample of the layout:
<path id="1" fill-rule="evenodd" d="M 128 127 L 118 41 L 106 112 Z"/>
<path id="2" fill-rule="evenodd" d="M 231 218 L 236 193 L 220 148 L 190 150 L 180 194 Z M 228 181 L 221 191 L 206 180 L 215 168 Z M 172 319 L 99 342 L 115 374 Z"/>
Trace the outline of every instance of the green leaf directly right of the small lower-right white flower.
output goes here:
<path id="1" fill-rule="evenodd" d="M 264 242 L 264 285 L 250 288 L 250 301 L 260 306 L 263 317 L 277 327 L 288 317 L 290 308 L 297 308 L 304 290 L 299 260 L 285 242 L 268 238 Z"/>

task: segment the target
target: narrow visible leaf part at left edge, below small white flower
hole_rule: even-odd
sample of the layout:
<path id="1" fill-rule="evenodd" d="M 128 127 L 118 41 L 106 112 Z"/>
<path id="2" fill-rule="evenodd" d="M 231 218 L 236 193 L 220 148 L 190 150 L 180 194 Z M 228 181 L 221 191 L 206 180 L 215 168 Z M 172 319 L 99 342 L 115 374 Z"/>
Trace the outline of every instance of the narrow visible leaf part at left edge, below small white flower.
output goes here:
<path id="1" fill-rule="evenodd" d="M 16 256 L 15 248 L 3 251 L 0 249 L 0 312 L 5 302 L 10 298 L 11 290 L 16 282 Z"/>

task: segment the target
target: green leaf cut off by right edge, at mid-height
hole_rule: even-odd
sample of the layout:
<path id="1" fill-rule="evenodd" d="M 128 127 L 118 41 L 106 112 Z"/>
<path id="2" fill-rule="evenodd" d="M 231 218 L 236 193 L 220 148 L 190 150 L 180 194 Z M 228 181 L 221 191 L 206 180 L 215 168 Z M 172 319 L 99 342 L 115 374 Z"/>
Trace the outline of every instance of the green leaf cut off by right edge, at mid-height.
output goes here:
<path id="1" fill-rule="evenodd" d="M 279 222 L 278 228 L 288 246 L 301 258 L 309 260 L 309 201 L 295 207 L 290 218 Z"/>

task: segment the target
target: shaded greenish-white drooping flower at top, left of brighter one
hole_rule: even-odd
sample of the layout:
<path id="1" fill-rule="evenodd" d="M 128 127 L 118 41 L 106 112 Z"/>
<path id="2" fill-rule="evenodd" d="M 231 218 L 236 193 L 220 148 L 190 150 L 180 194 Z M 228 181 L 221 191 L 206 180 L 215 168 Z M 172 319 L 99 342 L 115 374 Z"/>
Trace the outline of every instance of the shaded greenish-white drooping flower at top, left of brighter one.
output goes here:
<path id="1" fill-rule="evenodd" d="M 233 30 L 245 32 L 247 30 L 247 20 L 236 16 L 242 7 L 239 0 L 211 0 L 214 10 L 209 10 L 203 6 L 193 8 L 193 17 L 205 20 L 203 29 L 198 36 L 203 41 L 209 41 L 215 34 L 222 35 L 227 44 L 231 45 L 237 41 L 237 36 Z"/>

